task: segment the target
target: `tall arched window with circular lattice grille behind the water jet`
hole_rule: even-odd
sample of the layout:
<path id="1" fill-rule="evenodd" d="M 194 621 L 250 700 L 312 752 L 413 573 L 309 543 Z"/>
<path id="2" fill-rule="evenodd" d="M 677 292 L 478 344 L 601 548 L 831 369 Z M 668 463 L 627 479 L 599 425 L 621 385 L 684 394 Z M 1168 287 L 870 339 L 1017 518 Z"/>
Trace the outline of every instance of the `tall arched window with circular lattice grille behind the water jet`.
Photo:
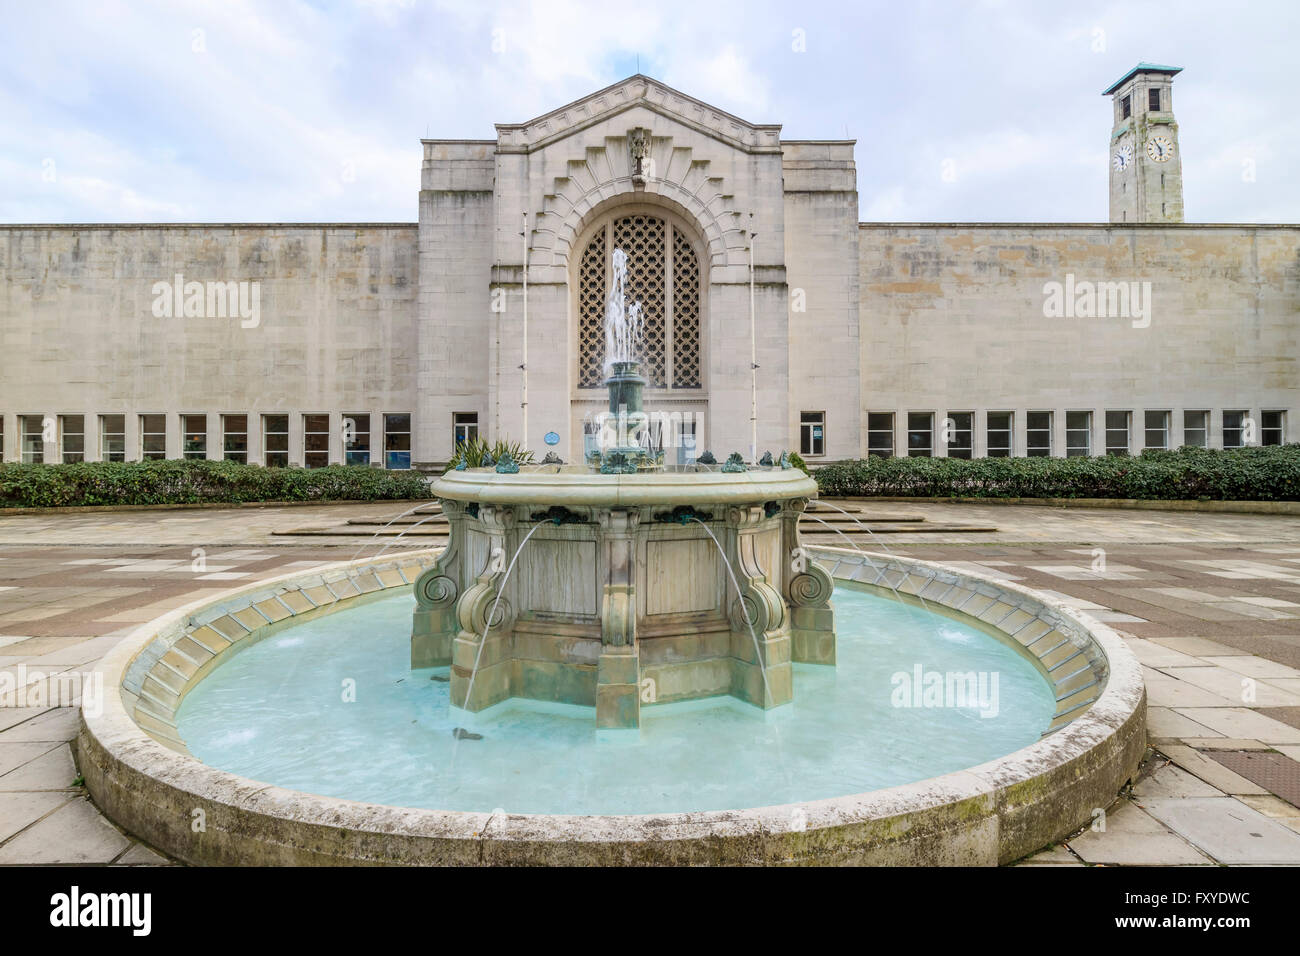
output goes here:
<path id="1" fill-rule="evenodd" d="M 646 384 L 699 389 L 699 259 L 684 229 L 654 213 L 606 220 L 582 248 L 577 272 L 578 388 L 604 388 L 604 297 L 615 248 L 628 256 L 628 298 L 641 303 Z"/>

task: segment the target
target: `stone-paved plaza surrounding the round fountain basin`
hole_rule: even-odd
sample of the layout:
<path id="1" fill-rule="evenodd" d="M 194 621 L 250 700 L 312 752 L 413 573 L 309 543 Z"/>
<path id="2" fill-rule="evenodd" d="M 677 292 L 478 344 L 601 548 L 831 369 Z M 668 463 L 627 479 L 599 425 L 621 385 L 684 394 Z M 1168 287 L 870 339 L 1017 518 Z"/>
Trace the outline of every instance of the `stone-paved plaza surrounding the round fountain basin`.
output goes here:
<path id="1" fill-rule="evenodd" d="M 1015 581 L 1117 628 L 1152 750 L 1131 792 L 1023 865 L 1300 864 L 1300 516 L 832 502 L 815 544 Z M 166 862 L 77 786 L 81 672 L 138 624 L 277 574 L 445 540 L 411 503 L 0 516 L 0 864 Z M 394 520 L 395 519 L 395 520 Z M 389 522 L 391 524 L 387 524 Z M 402 535 L 402 537 L 398 537 Z M 14 688 L 22 675 L 43 687 Z M 34 706 L 21 706 L 36 701 Z M 1104 813 L 1100 813 L 1104 810 Z"/>

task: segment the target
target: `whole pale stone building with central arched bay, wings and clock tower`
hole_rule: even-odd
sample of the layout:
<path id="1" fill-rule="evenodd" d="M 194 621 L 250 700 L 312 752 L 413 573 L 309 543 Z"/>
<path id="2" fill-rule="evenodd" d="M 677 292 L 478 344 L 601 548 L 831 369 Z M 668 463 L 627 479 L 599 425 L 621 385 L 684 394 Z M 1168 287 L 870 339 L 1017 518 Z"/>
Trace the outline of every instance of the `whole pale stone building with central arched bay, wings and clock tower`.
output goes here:
<path id="1" fill-rule="evenodd" d="M 615 248 L 670 462 L 1295 441 L 1300 228 L 1182 222 L 1176 72 L 1109 224 L 859 222 L 853 142 L 636 75 L 424 140 L 417 224 L 0 226 L 4 460 L 577 459 Z"/>

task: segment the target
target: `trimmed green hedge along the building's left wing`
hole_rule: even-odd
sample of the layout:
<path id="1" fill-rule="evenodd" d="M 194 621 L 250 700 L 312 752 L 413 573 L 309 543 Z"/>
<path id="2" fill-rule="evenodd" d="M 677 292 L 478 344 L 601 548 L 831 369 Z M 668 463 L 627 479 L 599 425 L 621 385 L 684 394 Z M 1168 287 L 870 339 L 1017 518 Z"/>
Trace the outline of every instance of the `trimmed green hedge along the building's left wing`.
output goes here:
<path id="1" fill-rule="evenodd" d="M 0 507 L 429 497 L 429 485 L 419 472 L 359 466 L 264 468 L 238 462 L 179 459 L 0 464 Z"/>

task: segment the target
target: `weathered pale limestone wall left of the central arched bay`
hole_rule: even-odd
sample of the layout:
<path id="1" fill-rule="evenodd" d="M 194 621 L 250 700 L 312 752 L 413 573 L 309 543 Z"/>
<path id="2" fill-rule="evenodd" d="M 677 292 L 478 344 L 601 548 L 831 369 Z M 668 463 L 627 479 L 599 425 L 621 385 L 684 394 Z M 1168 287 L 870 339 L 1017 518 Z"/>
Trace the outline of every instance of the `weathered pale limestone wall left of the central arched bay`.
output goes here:
<path id="1" fill-rule="evenodd" d="M 369 412 L 376 429 L 415 411 L 413 224 L 0 226 L 0 263 L 5 460 L 20 455 L 20 415 L 86 415 L 90 459 L 96 416 L 125 415 L 130 460 L 142 414 L 168 415 L 169 457 L 179 414 L 207 414 L 209 458 L 220 415 L 248 414 L 259 460 L 260 415 L 289 414 L 300 463 L 302 412 L 332 414 L 335 462 L 342 414 Z M 188 316 L 156 286 L 177 274 Z M 231 315 L 207 286 L 186 310 L 188 282 L 257 285 Z"/>

